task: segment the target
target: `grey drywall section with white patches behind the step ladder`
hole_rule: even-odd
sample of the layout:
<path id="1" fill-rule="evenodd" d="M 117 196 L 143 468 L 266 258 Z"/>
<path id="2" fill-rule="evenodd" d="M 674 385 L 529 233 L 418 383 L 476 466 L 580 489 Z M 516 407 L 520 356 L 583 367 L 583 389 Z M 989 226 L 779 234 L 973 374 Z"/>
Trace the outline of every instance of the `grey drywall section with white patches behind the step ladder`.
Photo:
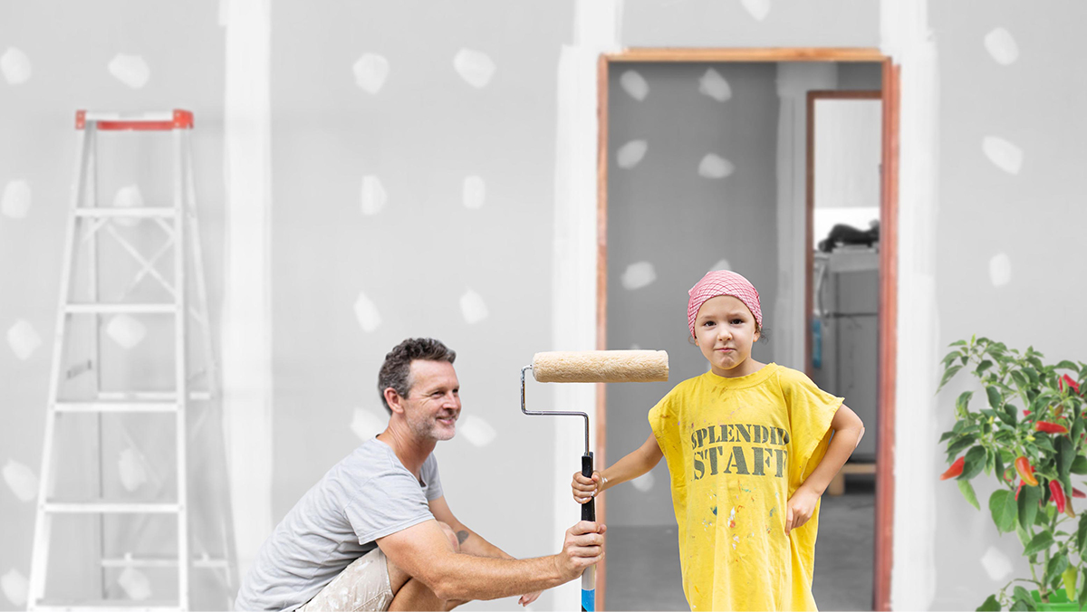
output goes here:
<path id="1" fill-rule="evenodd" d="M 64 2 L 5 2 L 0 7 L 0 609 L 25 605 L 34 533 L 34 508 L 49 386 L 52 339 L 54 337 L 58 289 L 64 248 L 64 224 L 74 179 L 77 109 L 116 112 L 191 110 L 195 171 L 208 284 L 212 296 L 222 292 L 223 258 L 223 43 L 214 3 L 179 5 L 166 2 L 111 1 L 95 4 Z M 161 136 L 159 137 L 162 138 Z M 168 138 L 168 137 L 166 137 Z M 168 142 L 168 140 L 166 140 Z M 151 135 L 102 135 L 99 150 L 99 202 L 112 205 L 134 201 L 138 188 L 146 205 L 161 205 L 172 197 L 168 146 Z M 121 227 L 134 245 L 150 257 L 163 235 L 157 227 Z M 104 230 L 103 230 L 104 232 Z M 114 241 L 101 234 L 104 248 L 116 250 Z M 123 255 L 123 253 L 116 253 Z M 112 255 L 111 255 L 112 258 Z M 117 265 L 121 257 L 111 259 Z M 166 259 L 168 262 L 168 258 Z M 168 263 L 160 270 L 168 277 Z M 136 268 L 124 268 L 135 272 Z M 117 272 L 115 267 L 111 272 Z M 155 282 L 147 277 L 137 291 L 153 291 Z M 150 295 L 150 293 L 148 293 Z M 111 295 L 109 297 L 115 297 Z M 214 305 L 213 305 L 213 310 Z M 217 315 L 213 312 L 213 322 Z M 108 323 L 108 322 L 103 322 Z M 114 388 L 161 383 L 147 367 L 132 367 L 127 358 L 168 355 L 171 345 L 160 344 L 161 326 L 153 321 L 107 325 L 104 348 L 114 363 L 128 366 L 108 373 Z M 143 333 L 143 335 L 140 334 Z M 168 338 L 168 335 L 166 336 Z M 123 346 L 129 346 L 126 349 Z M 172 372 L 172 371 L 171 371 Z M 167 380 L 170 375 L 165 377 Z M 70 420 L 75 421 L 75 419 Z M 151 496 L 173 482 L 168 460 L 174 425 L 170 417 L 129 422 L 126 438 L 115 421 L 103 438 L 105 487 L 108 492 L 128 497 Z M 86 423 L 86 422 L 85 422 Z M 59 492 L 87 490 L 91 466 L 97 459 L 80 449 L 92 449 L 87 435 L 91 426 L 61 429 Z M 117 474 L 132 486 L 118 486 Z M 64 485 L 74 485 L 66 487 Z M 78 488 L 77 488 L 78 487 Z M 89 521 L 89 519 L 88 519 Z M 88 571 L 96 554 L 97 534 L 91 525 L 58 523 L 54 539 L 62 547 L 54 552 L 53 573 L 47 594 L 85 595 L 99 591 L 99 574 Z M 147 541 L 145 536 L 161 532 L 140 529 L 136 541 L 112 545 L 171 546 L 162 536 Z M 108 532 L 109 534 L 109 532 Z M 158 541 L 162 540 L 162 541 Z M 117 550 L 108 550 L 116 554 Z M 138 549 L 137 549 L 138 552 Z M 61 559 L 61 561 L 55 561 Z M 67 565 L 65 565 L 65 563 Z M 109 592 L 122 596 L 120 573 L 110 571 L 104 583 Z M 148 572 L 152 595 L 166 595 L 173 578 Z M 193 574 L 195 605 L 223 605 L 225 598 L 212 597 L 220 589 L 207 575 Z M 140 580 L 126 582 L 139 588 Z"/>

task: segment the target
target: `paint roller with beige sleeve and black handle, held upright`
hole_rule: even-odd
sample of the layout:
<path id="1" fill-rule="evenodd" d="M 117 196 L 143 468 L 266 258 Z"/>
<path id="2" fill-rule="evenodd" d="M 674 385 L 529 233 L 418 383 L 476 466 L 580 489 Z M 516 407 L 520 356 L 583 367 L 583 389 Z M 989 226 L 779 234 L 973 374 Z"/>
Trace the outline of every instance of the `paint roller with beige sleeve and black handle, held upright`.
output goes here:
<path id="1" fill-rule="evenodd" d="M 665 351 L 552 351 L 533 355 L 533 364 L 521 369 L 521 412 L 545 416 L 585 417 L 585 454 L 582 475 L 592 477 L 589 450 L 589 415 L 585 412 L 525 410 L 525 372 L 532 370 L 537 383 L 653 383 L 669 379 Z M 596 500 L 582 504 L 582 521 L 596 521 Z M 582 574 L 582 611 L 596 609 L 596 566 Z"/>

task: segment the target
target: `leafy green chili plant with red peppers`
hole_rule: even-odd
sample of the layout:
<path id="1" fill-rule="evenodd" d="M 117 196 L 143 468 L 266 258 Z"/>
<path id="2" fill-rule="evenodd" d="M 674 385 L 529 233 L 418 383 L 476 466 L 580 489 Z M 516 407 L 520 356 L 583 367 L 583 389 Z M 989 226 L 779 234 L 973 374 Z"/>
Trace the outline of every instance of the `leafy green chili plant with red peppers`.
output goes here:
<path id="1" fill-rule="evenodd" d="M 967 390 L 955 400 L 954 426 L 940 437 L 950 464 L 940 479 L 954 478 L 980 510 L 971 480 L 995 477 L 989 513 L 999 533 L 1019 536 L 1030 567 L 978 610 L 1087 610 L 1087 502 L 1078 516 L 1073 508 L 1085 497 L 1073 477 L 1087 474 L 1087 364 L 1042 358 L 974 337 L 952 342 L 942 361 L 940 388 L 965 371 L 983 397 Z"/>

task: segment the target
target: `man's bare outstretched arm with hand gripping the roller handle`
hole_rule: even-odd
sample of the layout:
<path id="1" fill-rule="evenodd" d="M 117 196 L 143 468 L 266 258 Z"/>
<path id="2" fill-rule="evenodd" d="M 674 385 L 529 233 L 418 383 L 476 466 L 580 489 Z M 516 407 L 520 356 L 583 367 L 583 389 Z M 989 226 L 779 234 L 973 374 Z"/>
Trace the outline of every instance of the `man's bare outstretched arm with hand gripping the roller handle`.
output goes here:
<path id="1" fill-rule="evenodd" d="M 459 554 L 437 521 L 378 538 L 377 546 L 440 599 L 466 601 L 545 590 L 580 576 L 600 561 L 604 530 L 603 525 L 582 521 L 566 529 L 562 552 L 523 560 Z"/>

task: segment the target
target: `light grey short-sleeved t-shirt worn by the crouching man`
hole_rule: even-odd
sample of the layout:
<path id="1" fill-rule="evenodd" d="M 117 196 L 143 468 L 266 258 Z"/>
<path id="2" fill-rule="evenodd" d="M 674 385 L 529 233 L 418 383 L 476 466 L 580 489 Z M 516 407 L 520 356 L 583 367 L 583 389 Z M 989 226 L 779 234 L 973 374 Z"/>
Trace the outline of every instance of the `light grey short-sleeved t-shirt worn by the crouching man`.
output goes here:
<path id="1" fill-rule="evenodd" d="M 235 610 L 293 610 L 313 599 L 377 538 L 434 519 L 441 497 L 432 453 L 420 479 L 377 438 L 333 466 L 261 546 Z"/>

